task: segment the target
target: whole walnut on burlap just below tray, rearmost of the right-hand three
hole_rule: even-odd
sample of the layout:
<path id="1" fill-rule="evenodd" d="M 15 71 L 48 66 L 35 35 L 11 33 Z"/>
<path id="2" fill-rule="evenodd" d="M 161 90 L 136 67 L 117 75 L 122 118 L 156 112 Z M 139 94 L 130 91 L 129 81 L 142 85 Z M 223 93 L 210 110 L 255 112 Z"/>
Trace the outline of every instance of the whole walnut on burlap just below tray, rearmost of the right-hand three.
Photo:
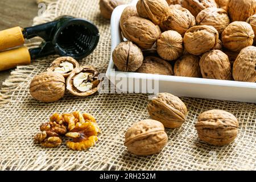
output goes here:
<path id="1" fill-rule="evenodd" d="M 170 93 L 157 94 L 150 100 L 147 110 L 152 119 L 171 129 L 180 127 L 188 114 L 185 104 Z"/>

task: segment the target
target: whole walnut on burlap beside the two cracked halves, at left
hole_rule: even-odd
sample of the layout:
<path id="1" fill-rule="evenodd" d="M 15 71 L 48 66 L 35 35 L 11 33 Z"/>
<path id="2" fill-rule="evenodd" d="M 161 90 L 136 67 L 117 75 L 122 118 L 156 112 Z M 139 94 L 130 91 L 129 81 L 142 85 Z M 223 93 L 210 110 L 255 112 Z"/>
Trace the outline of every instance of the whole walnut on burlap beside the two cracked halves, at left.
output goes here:
<path id="1" fill-rule="evenodd" d="M 30 83 L 30 94 L 38 101 L 55 102 L 65 94 L 65 78 L 56 72 L 44 72 Z"/>

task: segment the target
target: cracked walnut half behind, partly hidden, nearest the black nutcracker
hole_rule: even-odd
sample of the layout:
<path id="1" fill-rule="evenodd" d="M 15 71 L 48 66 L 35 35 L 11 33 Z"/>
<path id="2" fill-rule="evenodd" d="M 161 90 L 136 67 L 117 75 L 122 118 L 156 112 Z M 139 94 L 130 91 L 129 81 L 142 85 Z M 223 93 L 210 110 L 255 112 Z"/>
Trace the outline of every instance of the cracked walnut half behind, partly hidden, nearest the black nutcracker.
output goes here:
<path id="1" fill-rule="evenodd" d="M 79 63 L 72 57 L 58 57 L 52 62 L 47 71 L 57 72 L 64 77 L 68 77 L 76 68 L 79 68 Z"/>

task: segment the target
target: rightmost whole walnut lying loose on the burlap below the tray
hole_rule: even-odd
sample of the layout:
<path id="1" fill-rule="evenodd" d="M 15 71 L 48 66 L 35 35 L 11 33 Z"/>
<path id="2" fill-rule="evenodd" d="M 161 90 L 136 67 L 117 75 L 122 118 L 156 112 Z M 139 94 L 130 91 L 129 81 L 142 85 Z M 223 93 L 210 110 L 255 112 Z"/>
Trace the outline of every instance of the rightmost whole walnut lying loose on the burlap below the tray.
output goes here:
<path id="1" fill-rule="evenodd" d="M 195 127 L 201 140 L 217 146 L 229 144 L 238 133 L 237 118 L 224 110 L 201 113 Z"/>

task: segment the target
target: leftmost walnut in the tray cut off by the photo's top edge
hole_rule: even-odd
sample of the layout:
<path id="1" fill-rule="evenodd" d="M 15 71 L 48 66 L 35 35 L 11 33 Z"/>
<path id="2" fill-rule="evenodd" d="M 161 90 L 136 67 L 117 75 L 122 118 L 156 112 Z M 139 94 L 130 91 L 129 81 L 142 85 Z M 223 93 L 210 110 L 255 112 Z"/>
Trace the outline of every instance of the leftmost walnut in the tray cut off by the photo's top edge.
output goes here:
<path id="1" fill-rule="evenodd" d="M 155 24 L 165 21 L 170 12 L 165 0 L 139 0 L 136 7 L 139 16 L 149 18 Z"/>

